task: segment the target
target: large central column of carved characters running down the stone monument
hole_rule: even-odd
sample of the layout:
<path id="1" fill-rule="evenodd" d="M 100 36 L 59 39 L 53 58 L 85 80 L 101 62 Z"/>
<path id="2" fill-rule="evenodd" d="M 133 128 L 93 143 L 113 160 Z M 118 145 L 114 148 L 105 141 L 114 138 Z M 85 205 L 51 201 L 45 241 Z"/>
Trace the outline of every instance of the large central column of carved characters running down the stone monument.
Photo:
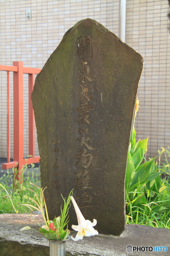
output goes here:
<path id="1" fill-rule="evenodd" d="M 90 119 L 90 113 L 94 110 L 94 98 L 89 95 L 88 84 L 94 81 L 90 74 L 88 59 L 93 58 L 93 36 L 81 36 L 77 39 L 77 56 L 81 57 L 79 69 L 77 70 L 77 80 L 80 80 L 80 97 L 77 99 L 77 124 L 80 125 L 77 131 L 77 149 L 75 150 L 75 164 L 78 172 L 74 172 L 73 188 L 78 189 L 76 203 L 79 208 L 84 209 L 85 218 L 87 219 L 88 209 L 93 207 L 93 196 L 91 195 L 90 185 L 90 166 L 93 160 L 93 151 L 95 148 L 90 144 L 90 126 L 93 120 Z M 90 101 L 90 103 L 89 103 Z"/>

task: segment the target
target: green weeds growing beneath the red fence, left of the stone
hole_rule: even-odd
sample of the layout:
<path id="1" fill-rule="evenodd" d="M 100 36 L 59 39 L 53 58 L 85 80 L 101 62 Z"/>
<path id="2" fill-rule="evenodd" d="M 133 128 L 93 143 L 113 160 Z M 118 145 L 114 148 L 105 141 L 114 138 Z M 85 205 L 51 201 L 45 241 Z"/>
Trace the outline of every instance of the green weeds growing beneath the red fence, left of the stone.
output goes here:
<path id="1" fill-rule="evenodd" d="M 32 165 L 32 167 L 34 167 L 34 165 Z M 13 174 L 10 174 L 7 170 L 7 173 L 0 178 L 0 183 L 6 189 L 6 191 L 3 188 L 0 190 L 0 214 L 15 213 L 15 209 L 21 214 L 29 213 L 32 211 L 32 209 L 28 209 L 26 206 L 19 205 L 25 203 L 30 204 L 30 200 L 28 198 L 34 197 L 35 195 L 31 190 L 34 190 L 38 195 L 40 194 L 40 190 L 34 185 L 30 184 L 33 183 L 38 187 L 41 186 L 40 174 L 38 172 L 35 173 L 35 171 L 32 171 L 32 175 L 30 176 L 27 165 L 24 165 L 22 172 L 23 183 L 19 184 L 16 179 L 16 176 L 18 175 L 17 168 L 13 168 L 12 171 Z M 31 190 L 25 188 L 29 188 Z M 13 202 L 13 206 L 9 197 Z"/>

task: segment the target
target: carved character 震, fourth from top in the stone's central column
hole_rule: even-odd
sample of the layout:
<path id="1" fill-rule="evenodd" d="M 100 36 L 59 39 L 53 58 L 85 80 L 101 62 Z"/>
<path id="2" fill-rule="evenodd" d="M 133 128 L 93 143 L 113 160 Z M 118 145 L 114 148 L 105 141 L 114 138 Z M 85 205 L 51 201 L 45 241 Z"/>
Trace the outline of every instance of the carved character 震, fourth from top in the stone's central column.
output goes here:
<path id="1" fill-rule="evenodd" d="M 87 102 L 80 103 L 81 106 L 76 109 L 76 111 L 79 113 L 79 118 L 77 120 L 77 123 L 80 123 L 81 125 L 84 125 L 86 122 L 90 125 L 91 123 L 88 118 L 89 118 L 89 111 L 93 110 L 94 107 L 89 105 Z"/>

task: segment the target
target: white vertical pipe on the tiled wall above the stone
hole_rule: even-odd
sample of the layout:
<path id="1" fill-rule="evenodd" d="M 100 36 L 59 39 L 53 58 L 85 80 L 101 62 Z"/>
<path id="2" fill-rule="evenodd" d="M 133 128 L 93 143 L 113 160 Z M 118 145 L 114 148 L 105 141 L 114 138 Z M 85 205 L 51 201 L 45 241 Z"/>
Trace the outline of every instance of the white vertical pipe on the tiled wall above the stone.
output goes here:
<path id="1" fill-rule="evenodd" d="M 126 0 L 119 0 L 119 38 L 125 42 Z"/>

